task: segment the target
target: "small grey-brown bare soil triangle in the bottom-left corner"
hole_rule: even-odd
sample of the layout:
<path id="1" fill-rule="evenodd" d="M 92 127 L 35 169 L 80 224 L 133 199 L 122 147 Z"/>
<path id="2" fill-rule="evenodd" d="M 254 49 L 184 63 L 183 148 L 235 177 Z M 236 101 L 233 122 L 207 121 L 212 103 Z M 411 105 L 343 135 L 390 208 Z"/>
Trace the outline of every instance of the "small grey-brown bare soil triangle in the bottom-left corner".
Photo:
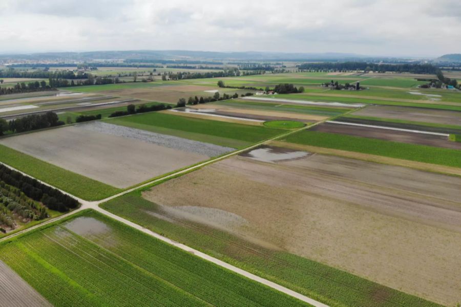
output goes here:
<path id="1" fill-rule="evenodd" d="M 2 261 L 0 261 L 0 305 L 2 307 L 52 306 Z"/>

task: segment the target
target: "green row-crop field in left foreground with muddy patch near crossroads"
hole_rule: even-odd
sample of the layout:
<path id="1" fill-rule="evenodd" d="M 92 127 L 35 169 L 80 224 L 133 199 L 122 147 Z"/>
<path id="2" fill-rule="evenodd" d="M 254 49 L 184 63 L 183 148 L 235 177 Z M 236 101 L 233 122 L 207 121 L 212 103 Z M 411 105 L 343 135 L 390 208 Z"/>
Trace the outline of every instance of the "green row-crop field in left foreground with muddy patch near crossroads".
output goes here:
<path id="1" fill-rule="evenodd" d="M 308 305 L 95 211 L 0 245 L 0 260 L 56 306 Z"/>

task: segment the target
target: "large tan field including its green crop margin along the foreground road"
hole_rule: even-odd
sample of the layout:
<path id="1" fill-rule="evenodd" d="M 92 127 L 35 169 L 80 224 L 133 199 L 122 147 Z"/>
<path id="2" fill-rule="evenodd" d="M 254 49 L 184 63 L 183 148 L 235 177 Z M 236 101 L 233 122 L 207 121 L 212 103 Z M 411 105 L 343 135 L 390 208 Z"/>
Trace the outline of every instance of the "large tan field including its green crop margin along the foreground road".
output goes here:
<path id="1" fill-rule="evenodd" d="M 435 259 L 458 261 L 459 179 L 321 155 L 267 162 L 276 152 L 294 153 L 226 159 L 102 207 L 333 306 L 436 305 L 390 288 L 455 301 L 458 264 Z"/>

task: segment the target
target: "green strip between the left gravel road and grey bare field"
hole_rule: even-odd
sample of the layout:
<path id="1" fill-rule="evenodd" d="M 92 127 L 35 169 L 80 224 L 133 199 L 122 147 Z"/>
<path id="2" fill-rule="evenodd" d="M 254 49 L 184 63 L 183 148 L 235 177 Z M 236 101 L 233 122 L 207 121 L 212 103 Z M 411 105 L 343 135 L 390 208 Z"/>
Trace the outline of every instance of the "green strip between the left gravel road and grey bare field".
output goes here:
<path id="1" fill-rule="evenodd" d="M 0 145 L 0 161 L 87 201 L 101 200 L 121 191 L 4 145 Z"/>

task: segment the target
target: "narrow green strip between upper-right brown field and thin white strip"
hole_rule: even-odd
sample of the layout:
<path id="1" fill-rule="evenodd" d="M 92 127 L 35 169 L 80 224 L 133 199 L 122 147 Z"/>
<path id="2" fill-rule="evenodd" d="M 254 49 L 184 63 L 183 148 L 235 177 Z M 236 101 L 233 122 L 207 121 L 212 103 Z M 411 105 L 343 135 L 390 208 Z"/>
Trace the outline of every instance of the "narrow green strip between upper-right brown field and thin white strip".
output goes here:
<path id="1" fill-rule="evenodd" d="M 413 122 L 399 119 L 387 119 L 379 117 L 367 117 L 367 116 L 355 116 L 355 115 L 346 115 L 341 116 L 336 121 L 348 122 L 348 123 L 358 123 L 365 125 L 375 125 L 375 126 L 385 126 L 392 128 L 402 128 L 410 130 L 421 130 L 421 131 L 431 131 L 436 133 L 446 133 L 446 134 L 461 134 L 461 126 L 455 125 L 444 125 L 444 124 L 435 124 L 435 123 L 426 123 L 426 122 Z"/>

